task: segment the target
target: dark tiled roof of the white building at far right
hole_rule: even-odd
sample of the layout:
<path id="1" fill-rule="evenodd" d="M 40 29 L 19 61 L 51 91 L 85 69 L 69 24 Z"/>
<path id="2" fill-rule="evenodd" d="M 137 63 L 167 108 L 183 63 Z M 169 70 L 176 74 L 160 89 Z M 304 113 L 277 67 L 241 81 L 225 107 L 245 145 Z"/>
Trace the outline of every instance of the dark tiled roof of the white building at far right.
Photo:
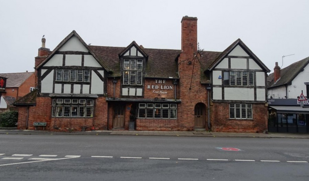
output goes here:
<path id="1" fill-rule="evenodd" d="M 290 83 L 309 63 L 309 57 L 297 61 L 280 70 L 280 78 L 274 82 L 274 73 L 267 77 L 268 88 L 282 86 Z"/>

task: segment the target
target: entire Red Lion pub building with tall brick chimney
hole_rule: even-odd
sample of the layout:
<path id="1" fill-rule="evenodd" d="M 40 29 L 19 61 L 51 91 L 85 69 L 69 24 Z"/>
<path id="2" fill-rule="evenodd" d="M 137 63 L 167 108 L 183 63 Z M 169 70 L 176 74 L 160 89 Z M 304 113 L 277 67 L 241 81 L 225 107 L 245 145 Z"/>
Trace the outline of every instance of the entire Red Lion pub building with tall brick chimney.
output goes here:
<path id="1" fill-rule="evenodd" d="M 38 89 L 15 102 L 18 128 L 267 130 L 269 69 L 240 39 L 223 52 L 200 50 L 197 18 L 181 24 L 180 50 L 92 46 L 73 31 L 49 51 L 43 38 Z"/>

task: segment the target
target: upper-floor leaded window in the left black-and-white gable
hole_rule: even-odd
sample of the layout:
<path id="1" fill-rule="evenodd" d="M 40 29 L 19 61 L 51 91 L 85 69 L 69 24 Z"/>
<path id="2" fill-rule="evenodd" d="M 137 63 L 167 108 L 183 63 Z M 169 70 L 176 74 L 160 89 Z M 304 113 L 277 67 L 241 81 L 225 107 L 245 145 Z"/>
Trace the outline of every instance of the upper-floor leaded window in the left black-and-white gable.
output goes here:
<path id="1" fill-rule="evenodd" d="M 90 70 L 57 69 L 56 81 L 89 82 Z"/>

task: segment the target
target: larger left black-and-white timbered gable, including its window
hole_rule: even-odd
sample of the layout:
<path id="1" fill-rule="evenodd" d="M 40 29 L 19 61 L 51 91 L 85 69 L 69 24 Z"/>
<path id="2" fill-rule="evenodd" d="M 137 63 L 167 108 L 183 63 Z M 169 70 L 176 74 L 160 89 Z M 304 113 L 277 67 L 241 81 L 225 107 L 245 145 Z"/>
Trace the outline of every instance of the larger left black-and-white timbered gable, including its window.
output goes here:
<path id="1" fill-rule="evenodd" d="M 36 69 L 40 93 L 104 94 L 108 69 L 71 32 Z"/>

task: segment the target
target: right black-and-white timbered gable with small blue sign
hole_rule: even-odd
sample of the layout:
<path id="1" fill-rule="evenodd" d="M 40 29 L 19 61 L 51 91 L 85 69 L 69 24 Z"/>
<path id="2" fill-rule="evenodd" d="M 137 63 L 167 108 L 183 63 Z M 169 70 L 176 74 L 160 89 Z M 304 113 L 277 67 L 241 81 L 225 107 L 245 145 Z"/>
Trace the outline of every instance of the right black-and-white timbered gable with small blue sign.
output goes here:
<path id="1" fill-rule="evenodd" d="M 209 71 L 214 101 L 265 101 L 269 69 L 240 39 L 216 58 Z"/>

